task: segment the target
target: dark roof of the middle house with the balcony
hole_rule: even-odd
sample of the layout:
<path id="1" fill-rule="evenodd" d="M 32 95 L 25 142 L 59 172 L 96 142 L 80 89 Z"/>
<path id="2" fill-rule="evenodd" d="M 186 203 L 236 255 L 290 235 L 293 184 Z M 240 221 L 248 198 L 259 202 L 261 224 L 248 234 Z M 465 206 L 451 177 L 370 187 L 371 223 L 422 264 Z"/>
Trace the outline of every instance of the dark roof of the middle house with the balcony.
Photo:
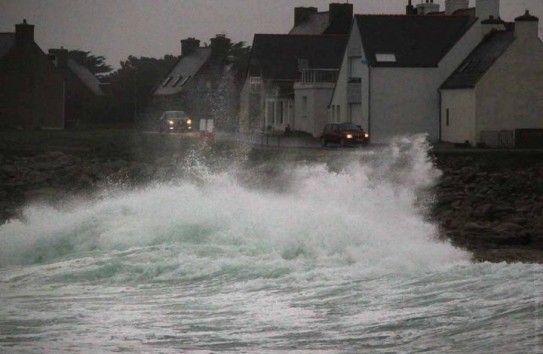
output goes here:
<path id="1" fill-rule="evenodd" d="M 249 75 L 272 80 L 300 78 L 299 59 L 309 69 L 338 69 L 347 35 L 255 34 Z M 304 61 L 305 61 L 304 60 Z"/>

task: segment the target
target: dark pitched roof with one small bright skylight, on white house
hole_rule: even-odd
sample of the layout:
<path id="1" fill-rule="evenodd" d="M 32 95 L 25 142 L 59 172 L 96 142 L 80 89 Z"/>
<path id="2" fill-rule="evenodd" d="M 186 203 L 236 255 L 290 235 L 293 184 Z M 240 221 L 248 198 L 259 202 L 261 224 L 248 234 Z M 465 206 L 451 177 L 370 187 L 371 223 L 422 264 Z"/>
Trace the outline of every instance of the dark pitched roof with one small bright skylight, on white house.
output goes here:
<path id="1" fill-rule="evenodd" d="M 369 64 L 384 67 L 436 67 L 475 23 L 454 15 L 357 15 L 355 21 Z"/>

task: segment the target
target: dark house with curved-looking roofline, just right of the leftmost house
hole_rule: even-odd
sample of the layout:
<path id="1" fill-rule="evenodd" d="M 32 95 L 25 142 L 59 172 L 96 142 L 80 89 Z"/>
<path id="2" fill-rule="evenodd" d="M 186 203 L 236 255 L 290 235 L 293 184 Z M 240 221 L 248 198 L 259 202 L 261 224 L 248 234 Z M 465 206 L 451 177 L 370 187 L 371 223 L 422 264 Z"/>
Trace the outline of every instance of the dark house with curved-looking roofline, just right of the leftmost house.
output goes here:
<path id="1" fill-rule="evenodd" d="M 66 127 L 106 122 L 107 95 L 96 76 L 70 59 L 67 49 L 49 49 L 49 58 L 65 80 Z"/>

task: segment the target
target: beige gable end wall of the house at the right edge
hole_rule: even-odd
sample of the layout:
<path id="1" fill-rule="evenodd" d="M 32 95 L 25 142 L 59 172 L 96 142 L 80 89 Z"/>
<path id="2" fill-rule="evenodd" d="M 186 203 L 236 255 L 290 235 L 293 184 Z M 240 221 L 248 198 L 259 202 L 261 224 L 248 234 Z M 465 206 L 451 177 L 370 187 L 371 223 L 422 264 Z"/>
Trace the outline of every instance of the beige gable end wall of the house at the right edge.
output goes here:
<path id="1" fill-rule="evenodd" d="M 479 81 L 477 133 L 543 128 L 543 43 L 519 39 Z"/>

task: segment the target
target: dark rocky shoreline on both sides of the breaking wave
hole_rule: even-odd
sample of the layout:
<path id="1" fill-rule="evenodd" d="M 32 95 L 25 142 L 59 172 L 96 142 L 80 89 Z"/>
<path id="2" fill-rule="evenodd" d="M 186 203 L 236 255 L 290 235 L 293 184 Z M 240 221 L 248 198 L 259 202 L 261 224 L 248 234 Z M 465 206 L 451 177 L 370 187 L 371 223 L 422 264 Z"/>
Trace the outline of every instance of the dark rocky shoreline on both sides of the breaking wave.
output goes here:
<path id="1" fill-rule="evenodd" d="M 476 261 L 543 263 L 543 152 L 434 152 L 443 171 L 430 215 Z M 0 222 L 29 201 L 62 202 L 122 183 L 167 181 L 179 156 L 153 162 L 50 151 L 0 154 Z"/>

